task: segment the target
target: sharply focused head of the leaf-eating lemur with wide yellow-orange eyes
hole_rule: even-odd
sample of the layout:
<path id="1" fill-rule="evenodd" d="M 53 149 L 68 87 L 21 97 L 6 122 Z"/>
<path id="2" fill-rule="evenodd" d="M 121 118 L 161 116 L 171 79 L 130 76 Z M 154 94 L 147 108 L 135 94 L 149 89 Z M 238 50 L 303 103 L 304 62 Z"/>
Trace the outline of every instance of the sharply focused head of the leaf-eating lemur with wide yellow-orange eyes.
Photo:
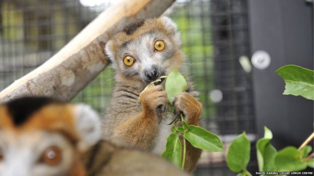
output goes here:
<path id="1" fill-rule="evenodd" d="M 117 75 L 149 83 L 183 62 L 180 34 L 168 17 L 137 21 L 106 45 Z"/>

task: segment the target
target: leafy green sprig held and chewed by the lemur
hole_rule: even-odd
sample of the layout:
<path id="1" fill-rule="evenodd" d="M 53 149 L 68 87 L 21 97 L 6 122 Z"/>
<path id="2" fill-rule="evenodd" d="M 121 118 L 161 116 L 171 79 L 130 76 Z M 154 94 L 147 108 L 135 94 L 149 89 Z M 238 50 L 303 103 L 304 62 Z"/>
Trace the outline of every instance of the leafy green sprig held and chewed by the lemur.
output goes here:
<path id="1" fill-rule="evenodd" d="M 172 106 L 174 98 L 187 89 L 187 82 L 178 70 L 173 70 L 166 79 L 165 89 L 170 106 Z M 183 152 L 180 138 L 183 140 Z M 181 114 L 181 118 L 172 128 L 172 134 L 167 138 L 166 150 L 162 153 L 162 156 L 175 165 L 184 168 L 186 140 L 196 148 L 208 151 L 223 151 L 221 139 L 217 135 L 199 126 L 188 125 Z"/>

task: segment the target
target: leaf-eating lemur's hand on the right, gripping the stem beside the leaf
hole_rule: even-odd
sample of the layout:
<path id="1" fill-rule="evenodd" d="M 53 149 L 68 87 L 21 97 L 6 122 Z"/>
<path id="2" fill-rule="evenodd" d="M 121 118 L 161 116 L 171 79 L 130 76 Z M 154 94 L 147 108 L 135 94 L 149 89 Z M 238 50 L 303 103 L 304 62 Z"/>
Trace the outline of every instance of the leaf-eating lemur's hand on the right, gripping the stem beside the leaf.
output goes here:
<path id="1" fill-rule="evenodd" d="M 176 113 L 182 112 L 185 120 L 190 125 L 197 125 L 202 111 L 202 104 L 191 94 L 183 92 L 174 99 Z"/>

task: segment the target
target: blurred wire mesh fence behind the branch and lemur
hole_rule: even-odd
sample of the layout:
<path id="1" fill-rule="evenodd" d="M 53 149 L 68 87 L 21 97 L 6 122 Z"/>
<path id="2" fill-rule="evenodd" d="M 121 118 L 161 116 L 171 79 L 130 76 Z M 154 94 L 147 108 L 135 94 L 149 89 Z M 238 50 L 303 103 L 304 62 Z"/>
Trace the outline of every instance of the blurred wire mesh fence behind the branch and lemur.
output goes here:
<path id="1" fill-rule="evenodd" d="M 49 59 L 110 4 L 82 3 L 0 0 L 0 90 Z M 239 62 L 250 56 L 247 12 L 246 0 L 179 0 L 165 13 L 181 33 L 182 50 L 203 104 L 203 126 L 219 134 L 225 147 L 242 131 L 253 144 L 256 137 L 251 73 Z M 72 101 L 103 113 L 113 76 L 107 67 Z M 251 161 L 249 169 L 255 169 L 255 156 Z M 235 175 L 226 168 L 225 153 L 203 152 L 195 175 Z"/>

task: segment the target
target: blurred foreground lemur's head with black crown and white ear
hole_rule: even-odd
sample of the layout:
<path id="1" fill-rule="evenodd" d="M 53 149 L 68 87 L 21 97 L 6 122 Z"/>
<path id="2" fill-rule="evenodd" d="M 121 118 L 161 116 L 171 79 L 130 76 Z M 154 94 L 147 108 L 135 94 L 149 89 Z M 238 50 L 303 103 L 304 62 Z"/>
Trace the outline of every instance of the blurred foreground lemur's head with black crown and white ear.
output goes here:
<path id="1" fill-rule="evenodd" d="M 100 140 L 100 130 L 87 105 L 44 97 L 0 105 L 0 175 L 82 176 L 80 153 Z"/>

